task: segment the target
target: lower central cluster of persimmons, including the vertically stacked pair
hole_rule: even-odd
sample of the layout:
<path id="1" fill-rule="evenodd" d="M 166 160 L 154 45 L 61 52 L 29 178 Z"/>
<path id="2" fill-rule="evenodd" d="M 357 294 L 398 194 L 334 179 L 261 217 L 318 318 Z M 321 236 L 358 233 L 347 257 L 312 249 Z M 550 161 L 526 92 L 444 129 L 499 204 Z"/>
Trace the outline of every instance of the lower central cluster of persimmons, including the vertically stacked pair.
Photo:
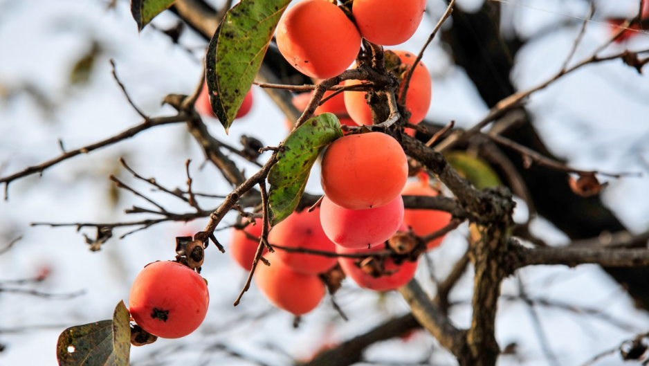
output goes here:
<path id="1" fill-rule="evenodd" d="M 408 283 L 419 254 L 441 242 L 426 247 L 414 235 L 446 226 L 450 214 L 404 210 L 401 194 L 437 194 L 427 179 L 407 180 L 407 158 L 392 136 L 349 134 L 331 143 L 322 157 L 322 203 L 271 229 L 268 242 L 276 250 L 264 251 L 271 266 L 256 268 L 259 290 L 280 309 L 302 315 L 318 306 L 322 278 L 338 271 L 337 264 L 364 289 L 390 291 Z M 248 271 L 261 235 L 261 219 L 232 234 L 230 253 Z"/>

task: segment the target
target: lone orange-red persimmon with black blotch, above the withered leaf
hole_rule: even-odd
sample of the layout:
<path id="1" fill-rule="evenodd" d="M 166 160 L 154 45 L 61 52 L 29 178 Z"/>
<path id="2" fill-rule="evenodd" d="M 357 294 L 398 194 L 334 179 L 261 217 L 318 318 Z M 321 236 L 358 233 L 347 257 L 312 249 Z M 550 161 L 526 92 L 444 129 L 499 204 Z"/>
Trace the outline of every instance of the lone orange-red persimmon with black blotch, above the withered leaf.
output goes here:
<path id="1" fill-rule="evenodd" d="M 145 331 L 161 338 L 181 338 L 201 325 L 210 295 L 205 280 L 176 262 L 145 266 L 131 286 L 129 311 Z"/>

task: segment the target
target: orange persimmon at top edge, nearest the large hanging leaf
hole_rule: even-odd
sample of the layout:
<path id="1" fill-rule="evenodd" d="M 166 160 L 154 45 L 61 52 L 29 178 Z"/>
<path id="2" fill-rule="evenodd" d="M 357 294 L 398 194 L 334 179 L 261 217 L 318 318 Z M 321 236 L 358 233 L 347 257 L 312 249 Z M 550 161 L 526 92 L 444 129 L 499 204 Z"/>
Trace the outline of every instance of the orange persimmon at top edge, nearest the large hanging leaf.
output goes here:
<path id="1" fill-rule="evenodd" d="M 277 48 L 300 73 L 327 79 L 354 62 L 360 49 L 360 34 L 333 3 L 304 0 L 286 10 L 280 19 Z"/>

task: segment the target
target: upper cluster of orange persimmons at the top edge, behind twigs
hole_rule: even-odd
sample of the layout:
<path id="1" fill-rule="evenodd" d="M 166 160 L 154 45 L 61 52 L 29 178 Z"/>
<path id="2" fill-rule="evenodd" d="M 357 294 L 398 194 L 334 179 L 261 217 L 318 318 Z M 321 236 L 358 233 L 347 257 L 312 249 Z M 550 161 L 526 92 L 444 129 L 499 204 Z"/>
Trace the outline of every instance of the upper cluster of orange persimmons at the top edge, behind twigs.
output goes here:
<path id="1" fill-rule="evenodd" d="M 421 22 L 426 8 L 425 0 L 354 0 L 351 11 L 327 0 L 303 0 L 290 8 L 277 26 L 277 48 L 298 71 L 324 79 L 345 71 L 356 59 L 361 38 L 383 46 L 401 44 L 410 39 Z M 313 24 L 327 24 L 315 27 Z M 399 78 L 403 92 L 405 71 L 414 67 L 405 109 L 413 125 L 421 122 L 430 107 L 431 82 L 428 69 L 421 62 L 414 64 L 415 56 L 406 51 L 386 51 L 388 71 Z M 347 80 L 345 86 L 360 84 Z M 331 93 L 331 92 L 327 92 Z M 326 111 L 334 113 L 344 125 L 372 125 L 372 112 L 366 101 L 366 92 L 345 91 L 343 98 L 334 96 L 316 110 L 316 116 Z M 326 98 L 328 95 L 325 94 Z M 400 96 L 400 95 L 398 95 Z M 310 94 L 298 95 L 293 104 L 304 109 Z M 292 128 L 292 125 L 289 124 Z M 413 134 L 414 130 L 407 130 Z"/>

